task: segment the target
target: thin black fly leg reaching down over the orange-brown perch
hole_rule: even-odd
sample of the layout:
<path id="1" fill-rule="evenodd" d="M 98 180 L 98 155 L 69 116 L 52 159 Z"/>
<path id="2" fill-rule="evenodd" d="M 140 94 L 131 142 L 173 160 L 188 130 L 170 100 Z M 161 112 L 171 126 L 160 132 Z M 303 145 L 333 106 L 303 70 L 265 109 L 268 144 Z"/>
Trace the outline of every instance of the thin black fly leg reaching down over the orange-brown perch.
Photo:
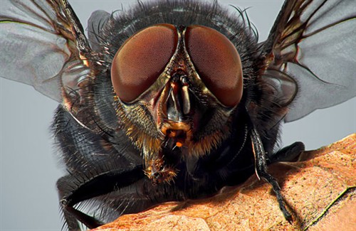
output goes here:
<path id="1" fill-rule="evenodd" d="M 261 177 L 269 184 L 271 184 L 274 193 L 276 193 L 279 208 L 281 209 L 284 217 L 286 217 L 286 220 L 288 220 L 288 222 L 291 222 L 292 216 L 286 209 L 286 202 L 284 201 L 283 196 L 281 194 L 281 187 L 279 187 L 276 179 L 273 178 L 273 176 L 271 176 L 271 174 L 267 172 L 266 153 L 263 149 L 261 138 L 255 128 L 251 129 L 251 140 L 253 154 L 255 156 L 256 174 L 258 178 Z"/>

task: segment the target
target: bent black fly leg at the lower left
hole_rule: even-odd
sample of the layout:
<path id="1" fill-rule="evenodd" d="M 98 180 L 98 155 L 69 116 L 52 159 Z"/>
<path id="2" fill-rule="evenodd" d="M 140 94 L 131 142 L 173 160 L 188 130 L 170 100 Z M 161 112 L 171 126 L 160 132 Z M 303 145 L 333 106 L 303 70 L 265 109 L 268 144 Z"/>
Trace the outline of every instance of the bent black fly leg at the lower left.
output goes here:
<path id="1" fill-rule="evenodd" d="M 120 188 L 130 186 L 145 176 L 142 166 L 136 166 L 129 170 L 114 170 L 100 173 L 87 180 L 79 180 L 74 188 L 68 189 L 68 185 L 73 185 L 73 181 L 78 181 L 75 176 L 65 176 L 58 180 L 57 187 L 61 197 L 61 208 L 69 230 L 80 230 L 78 222 L 82 222 L 90 229 L 103 225 L 99 220 L 74 208 L 74 205 L 100 195 L 111 193 Z"/>

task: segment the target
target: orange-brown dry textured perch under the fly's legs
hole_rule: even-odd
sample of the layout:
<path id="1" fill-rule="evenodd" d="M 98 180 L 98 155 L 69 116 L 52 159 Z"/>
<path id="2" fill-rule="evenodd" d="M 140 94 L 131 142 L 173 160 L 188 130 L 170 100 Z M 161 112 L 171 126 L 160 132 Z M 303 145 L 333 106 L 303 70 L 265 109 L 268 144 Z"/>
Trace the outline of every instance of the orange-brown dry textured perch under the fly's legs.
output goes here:
<path id="1" fill-rule="evenodd" d="M 356 134 L 351 134 L 305 151 L 298 162 L 268 167 L 293 213 L 292 224 L 271 186 L 251 176 L 214 197 L 164 203 L 95 230 L 356 230 L 355 156 Z"/>

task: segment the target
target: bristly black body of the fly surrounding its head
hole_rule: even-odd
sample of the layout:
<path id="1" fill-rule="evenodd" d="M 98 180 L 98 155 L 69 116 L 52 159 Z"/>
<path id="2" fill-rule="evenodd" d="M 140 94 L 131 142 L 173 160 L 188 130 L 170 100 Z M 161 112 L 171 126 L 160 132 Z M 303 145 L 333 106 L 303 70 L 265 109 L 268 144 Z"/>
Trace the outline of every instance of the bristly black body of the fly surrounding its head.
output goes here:
<path id="1" fill-rule="evenodd" d="M 200 7 L 197 9 L 197 6 Z M 179 10 L 182 8 L 184 11 Z M 58 107 L 53 123 L 54 134 L 56 134 L 56 140 L 63 151 L 63 159 L 70 171 L 69 176 L 58 181 L 58 189 L 63 193 L 62 195 L 67 195 L 76 189 L 76 185 L 81 185 L 85 181 L 96 181 L 95 177 L 100 173 L 118 171 L 119 175 L 114 180 L 117 182 L 113 182 L 112 188 L 106 189 L 108 191 L 105 191 L 105 186 L 96 186 L 97 182 L 93 184 L 93 186 L 95 185 L 95 194 L 103 193 L 103 196 L 98 200 L 105 205 L 100 205 L 103 206 L 100 209 L 109 211 L 108 215 L 103 215 L 103 217 L 111 220 L 121 213 L 135 213 L 159 202 L 211 195 L 223 186 L 236 185 L 251 176 L 254 171 L 250 138 L 252 125 L 248 112 L 246 112 L 246 104 L 250 101 L 256 102 L 256 104 L 261 103 L 263 92 L 261 92 L 256 76 L 258 67 L 262 65 L 262 60 L 258 57 L 257 38 L 252 29 L 246 22 L 236 23 L 235 18 L 229 18 L 226 14 L 226 11 L 221 10 L 217 5 L 201 5 L 196 2 L 190 4 L 174 1 L 170 4 L 161 2 L 156 7 L 145 4 L 145 7 L 138 6 L 127 18 L 108 19 L 102 31 L 95 31 L 95 34 L 91 34 L 91 36 L 91 32 L 89 32 L 89 38 L 93 38 L 93 47 L 98 49 L 95 51 L 102 55 L 99 59 L 108 62 L 108 66 L 98 68 L 100 72 L 91 80 L 93 82 L 88 84 L 90 88 L 85 89 L 86 96 L 85 102 L 83 102 L 85 107 L 81 109 L 80 104 L 75 105 L 80 111 L 74 114 L 75 119 L 71 114 L 73 112 L 68 112 L 62 106 Z M 206 15 L 210 15 L 211 18 L 206 18 Z M 102 21 L 105 19 L 107 18 L 100 18 Z M 224 27 L 214 22 L 218 19 Z M 142 162 L 142 151 L 137 149 L 132 144 L 132 140 L 127 137 L 125 130 L 122 129 L 122 124 L 120 124 L 122 122 L 117 123 L 117 108 L 112 107 L 112 105 L 117 105 L 117 102 L 114 100 L 115 92 L 112 90 L 112 81 L 110 72 L 108 72 L 110 63 L 122 43 L 137 31 L 159 23 L 169 23 L 177 28 L 197 24 L 220 31 L 239 50 L 241 63 L 244 67 L 244 96 L 239 106 L 234 108 L 229 116 L 231 118 L 229 130 L 224 131 L 229 133 L 229 136 L 224 141 L 211 148 L 209 154 L 197 157 L 185 156 L 187 154 L 184 154 L 184 151 L 175 146 L 172 141 L 162 141 L 164 143 L 162 144 L 164 164 L 172 166 L 174 171 L 177 171 L 173 182 L 167 183 L 152 183 L 143 174 L 145 168 L 142 165 L 145 162 Z M 90 31 L 90 26 L 88 27 Z M 95 38 L 100 38 L 99 43 L 101 44 L 97 44 Z M 199 106 L 198 97 L 192 94 L 192 107 Z M 226 97 L 230 96 L 226 95 Z M 271 99 L 270 103 L 274 104 L 276 100 L 278 99 Z M 213 131 L 224 126 L 221 124 L 221 117 L 214 112 L 216 109 L 209 108 L 209 102 L 206 104 L 199 106 L 203 107 L 200 112 L 201 122 L 199 124 L 206 124 L 209 130 L 201 129 L 201 131 L 197 131 L 197 136 L 211 136 Z M 198 109 L 197 107 L 197 111 Z M 263 108 L 258 113 L 267 115 L 276 114 L 278 111 L 266 105 L 266 109 Z M 137 129 L 140 131 L 150 129 L 150 122 L 145 122 L 143 119 L 150 116 L 143 110 L 139 111 L 138 118 L 144 121 L 142 125 L 144 128 Z M 253 117 L 256 116 L 253 115 Z M 77 119 L 85 124 L 85 127 L 80 126 Z M 273 153 L 273 146 L 276 143 L 279 127 L 277 122 L 263 120 L 258 123 L 258 133 L 263 134 L 263 146 L 269 154 Z M 140 127 L 140 124 L 137 127 Z M 135 168 L 140 170 L 130 173 L 134 175 L 130 182 L 133 185 L 121 188 L 120 171 L 130 171 Z M 85 180 L 76 180 L 78 176 L 83 176 Z M 68 184 L 70 185 L 70 182 L 73 181 L 78 181 L 75 182 L 74 188 L 68 187 Z M 119 187 L 120 190 L 115 190 Z M 63 188 L 65 189 L 63 190 Z M 90 190 L 94 189 L 85 188 L 83 195 L 90 194 Z M 105 195 L 106 193 L 110 193 L 110 196 Z M 80 200 L 83 199 L 80 198 Z M 113 211 L 116 213 L 112 213 Z"/>

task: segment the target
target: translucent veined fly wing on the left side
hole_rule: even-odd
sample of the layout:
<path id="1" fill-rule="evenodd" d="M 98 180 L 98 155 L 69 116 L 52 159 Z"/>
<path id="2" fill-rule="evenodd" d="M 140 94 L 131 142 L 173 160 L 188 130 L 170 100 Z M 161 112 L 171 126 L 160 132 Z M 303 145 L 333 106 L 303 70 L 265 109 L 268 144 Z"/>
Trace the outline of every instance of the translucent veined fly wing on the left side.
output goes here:
<path id="1" fill-rule="evenodd" d="M 67 1 L 1 0 L 1 77 L 61 102 L 90 74 L 90 55 Z"/>

